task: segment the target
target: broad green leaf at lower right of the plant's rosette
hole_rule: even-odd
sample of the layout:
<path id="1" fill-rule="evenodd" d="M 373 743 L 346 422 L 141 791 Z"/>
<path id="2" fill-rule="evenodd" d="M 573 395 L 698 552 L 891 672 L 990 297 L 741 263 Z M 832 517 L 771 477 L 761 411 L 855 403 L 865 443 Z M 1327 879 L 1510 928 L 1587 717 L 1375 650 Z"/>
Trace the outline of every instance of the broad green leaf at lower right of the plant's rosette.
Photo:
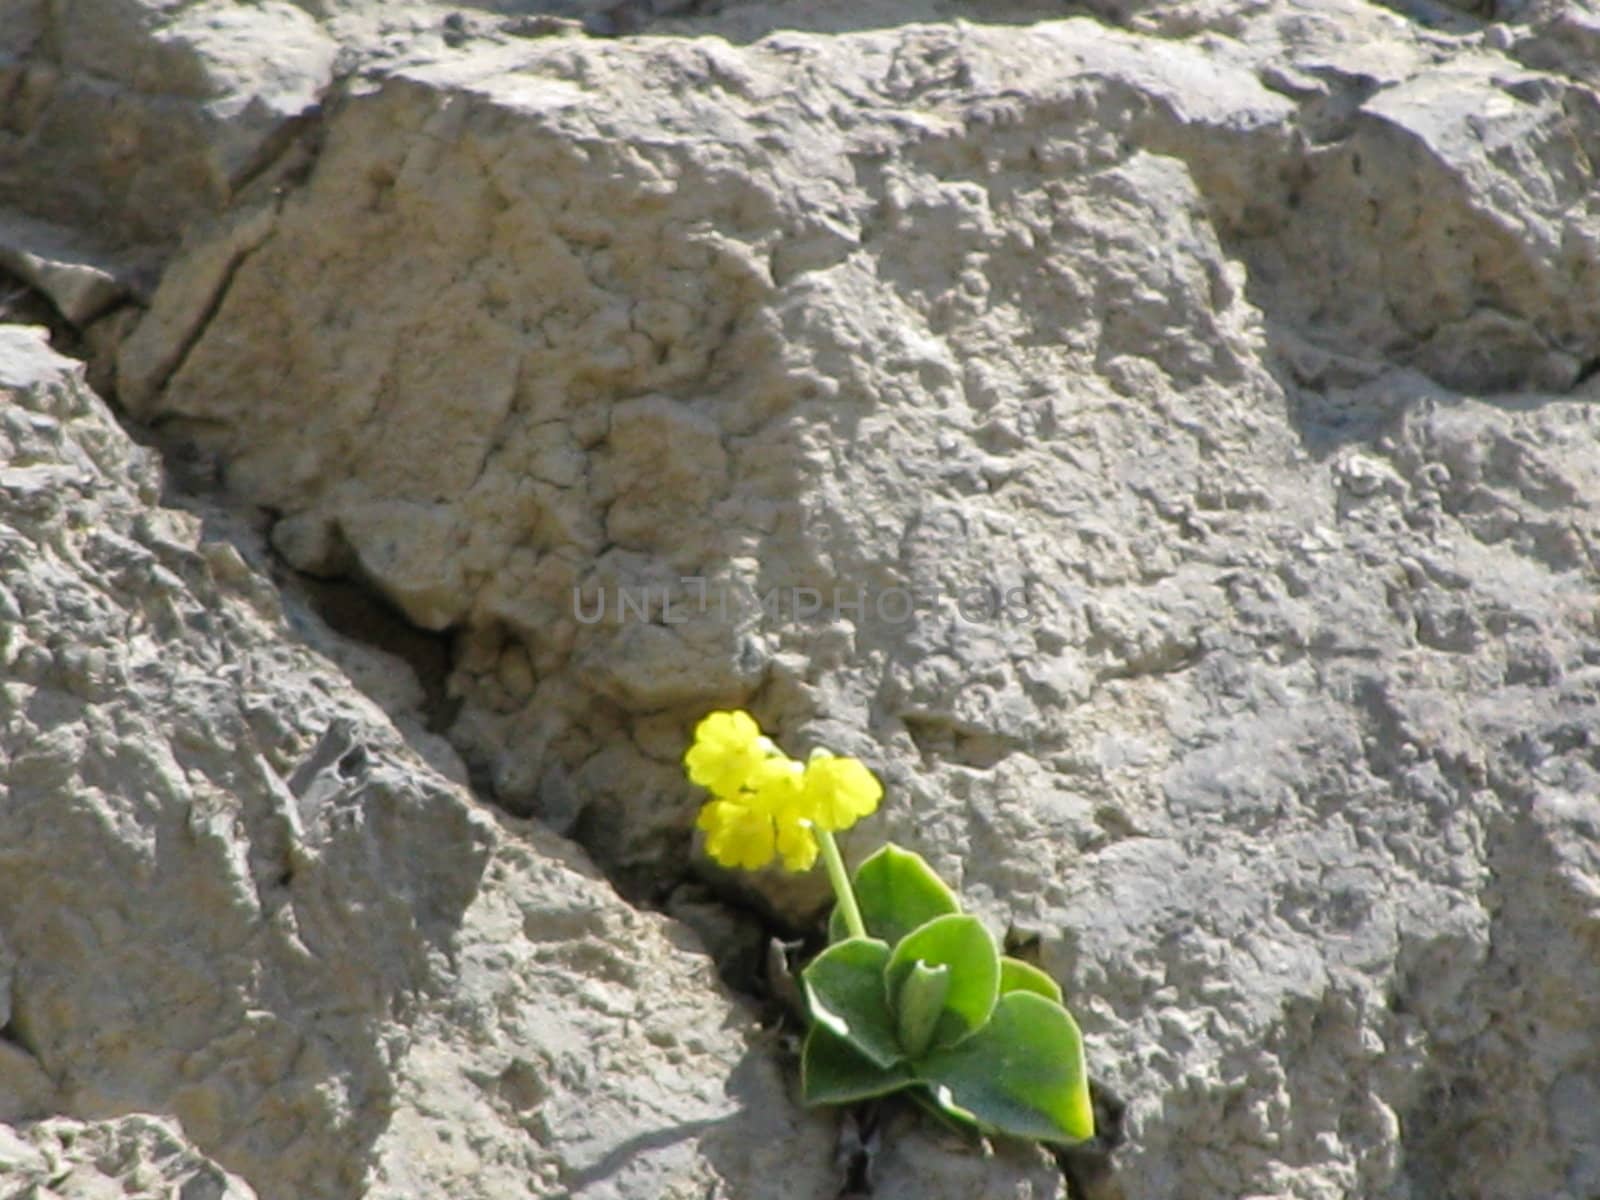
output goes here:
<path id="1" fill-rule="evenodd" d="M 1000 997 L 987 1026 L 926 1054 L 917 1075 L 944 1109 L 979 1128 L 1067 1144 L 1094 1136 L 1078 1026 L 1035 992 Z"/>

